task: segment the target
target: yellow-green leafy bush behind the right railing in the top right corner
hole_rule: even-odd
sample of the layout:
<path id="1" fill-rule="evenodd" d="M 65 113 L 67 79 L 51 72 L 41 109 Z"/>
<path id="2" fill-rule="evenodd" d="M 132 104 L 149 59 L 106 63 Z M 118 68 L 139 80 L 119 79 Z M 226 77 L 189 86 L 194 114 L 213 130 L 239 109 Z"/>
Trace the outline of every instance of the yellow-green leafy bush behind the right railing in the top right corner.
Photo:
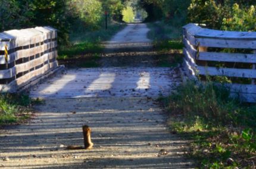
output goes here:
<path id="1" fill-rule="evenodd" d="M 255 31 L 255 2 L 238 0 L 192 0 L 189 21 L 211 29 Z"/>

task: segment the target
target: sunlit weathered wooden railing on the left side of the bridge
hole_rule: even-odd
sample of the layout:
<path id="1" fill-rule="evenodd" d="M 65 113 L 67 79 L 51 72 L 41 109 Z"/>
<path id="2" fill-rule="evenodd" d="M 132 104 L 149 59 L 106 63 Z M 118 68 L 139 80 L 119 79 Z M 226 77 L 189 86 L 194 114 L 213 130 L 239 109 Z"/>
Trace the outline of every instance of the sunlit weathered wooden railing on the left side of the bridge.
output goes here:
<path id="1" fill-rule="evenodd" d="M 57 30 L 52 27 L 0 33 L 0 89 L 16 92 L 58 66 Z"/>

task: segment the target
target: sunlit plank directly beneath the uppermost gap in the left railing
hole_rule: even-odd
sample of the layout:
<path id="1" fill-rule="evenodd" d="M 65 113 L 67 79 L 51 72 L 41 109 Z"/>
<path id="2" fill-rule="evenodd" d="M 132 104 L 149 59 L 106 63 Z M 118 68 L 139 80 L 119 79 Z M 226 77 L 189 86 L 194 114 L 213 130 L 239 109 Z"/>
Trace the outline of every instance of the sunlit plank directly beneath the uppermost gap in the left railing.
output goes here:
<path id="1" fill-rule="evenodd" d="M 20 51 L 13 52 L 12 54 L 8 55 L 8 63 L 14 62 L 19 60 L 20 58 L 30 57 L 36 54 L 40 54 L 41 52 L 47 51 L 48 49 L 56 48 L 57 42 L 49 42 L 45 43 L 40 46 L 35 46 L 34 48 L 30 49 L 21 49 Z M 6 64 L 5 56 L 0 55 L 0 64 Z"/>

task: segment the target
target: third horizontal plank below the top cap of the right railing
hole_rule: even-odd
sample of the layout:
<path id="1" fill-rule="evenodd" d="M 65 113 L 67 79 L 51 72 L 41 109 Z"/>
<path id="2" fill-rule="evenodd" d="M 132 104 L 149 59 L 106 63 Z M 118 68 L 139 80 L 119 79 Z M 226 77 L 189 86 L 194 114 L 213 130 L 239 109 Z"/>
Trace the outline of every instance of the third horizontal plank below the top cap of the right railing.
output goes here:
<path id="1" fill-rule="evenodd" d="M 216 68 L 198 66 L 199 74 L 205 76 L 228 76 L 228 77 L 245 77 L 256 78 L 256 70 L 243 68 Z"/>

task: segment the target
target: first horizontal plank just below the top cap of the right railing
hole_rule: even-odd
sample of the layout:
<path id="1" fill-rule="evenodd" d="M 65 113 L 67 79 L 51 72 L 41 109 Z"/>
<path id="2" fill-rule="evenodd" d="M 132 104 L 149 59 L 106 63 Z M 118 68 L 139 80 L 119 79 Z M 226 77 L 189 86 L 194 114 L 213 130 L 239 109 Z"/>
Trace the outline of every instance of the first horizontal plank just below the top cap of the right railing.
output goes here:
<path id="1" fill-rule="evenodd" d="M 200 46 L 213 48 L 256 49 L 256 40 L 226 40 L 197 37 L 196 42 L 199 42 Z"/>

